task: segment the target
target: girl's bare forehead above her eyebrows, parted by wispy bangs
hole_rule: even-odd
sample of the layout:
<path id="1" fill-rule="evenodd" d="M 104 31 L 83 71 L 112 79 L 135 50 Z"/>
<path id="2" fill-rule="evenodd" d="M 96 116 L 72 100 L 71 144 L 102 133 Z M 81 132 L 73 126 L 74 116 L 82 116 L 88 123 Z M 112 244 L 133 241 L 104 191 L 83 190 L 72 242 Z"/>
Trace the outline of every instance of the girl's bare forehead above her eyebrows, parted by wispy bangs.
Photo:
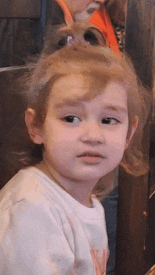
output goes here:
<path id="1" fill-rule="evenodd" d="M 97 96 L 101 97 L 101 101 L 118 105 L 123 101 L 123 105 L 127 105 L 127 92 L 125 87 L 118 82 L 106 83 L 106 86 L 96 85 L 90 81 L 89 77 L 83 75 L 67 75 L 58 79 L 51 90 L 49 100 L 52 105 L 61 107 L 68 103 L 75 104 L 82 101 L 92 101 Z"/>

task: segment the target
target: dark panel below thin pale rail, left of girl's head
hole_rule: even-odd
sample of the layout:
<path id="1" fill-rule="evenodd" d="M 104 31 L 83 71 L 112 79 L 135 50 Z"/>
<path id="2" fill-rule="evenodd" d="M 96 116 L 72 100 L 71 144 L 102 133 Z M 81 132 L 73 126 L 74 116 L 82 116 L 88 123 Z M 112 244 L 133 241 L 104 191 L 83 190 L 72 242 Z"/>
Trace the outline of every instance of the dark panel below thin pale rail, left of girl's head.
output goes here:
<path id="1" fill-rule="evenodd" d="M 32 66 L 0 68 L 0 188 L 13 176 L 7 154 L 11 150 L 16 150 L 23 139 L 23 117 L 27 102 L 17 79 L 30 72 L 32 68 Z"/>

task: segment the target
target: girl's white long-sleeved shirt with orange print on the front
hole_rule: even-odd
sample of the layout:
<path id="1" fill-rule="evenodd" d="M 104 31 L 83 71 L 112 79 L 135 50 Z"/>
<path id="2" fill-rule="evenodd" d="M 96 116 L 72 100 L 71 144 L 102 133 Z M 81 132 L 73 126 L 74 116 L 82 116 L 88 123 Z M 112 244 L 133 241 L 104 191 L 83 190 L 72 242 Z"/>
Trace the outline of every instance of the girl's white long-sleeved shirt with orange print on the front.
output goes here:
<path id="1" fill-rule="evenodd" d="M 103 275 L 109 255 L 104 208 L 92 208 L 35 167 L 0 193 L 1 275 Z"/>

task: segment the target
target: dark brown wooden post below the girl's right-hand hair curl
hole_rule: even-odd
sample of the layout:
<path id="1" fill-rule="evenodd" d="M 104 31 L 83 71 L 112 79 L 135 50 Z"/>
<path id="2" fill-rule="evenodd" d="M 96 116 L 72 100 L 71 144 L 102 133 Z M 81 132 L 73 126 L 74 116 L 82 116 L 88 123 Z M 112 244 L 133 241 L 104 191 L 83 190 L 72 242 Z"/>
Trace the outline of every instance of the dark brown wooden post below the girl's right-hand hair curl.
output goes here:
<path id="1" fill-rule="evenodd" d="M 119 173 L 116 275 L 144 275 L 147 176 L 131 177 Z"/>

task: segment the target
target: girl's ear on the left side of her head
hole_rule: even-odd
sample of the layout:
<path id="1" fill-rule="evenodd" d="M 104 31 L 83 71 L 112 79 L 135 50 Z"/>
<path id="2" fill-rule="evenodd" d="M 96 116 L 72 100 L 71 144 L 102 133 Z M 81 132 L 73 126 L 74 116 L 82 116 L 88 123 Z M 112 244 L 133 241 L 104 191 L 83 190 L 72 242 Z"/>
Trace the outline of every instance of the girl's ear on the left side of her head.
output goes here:
<path id="1" fill-rule="evenodd" d="M 25 123 L 31 140 L 36 144 L 42 144 L 42 129 L 34 123 L 35 110 L 28 108 L 25 112 Z"/>

